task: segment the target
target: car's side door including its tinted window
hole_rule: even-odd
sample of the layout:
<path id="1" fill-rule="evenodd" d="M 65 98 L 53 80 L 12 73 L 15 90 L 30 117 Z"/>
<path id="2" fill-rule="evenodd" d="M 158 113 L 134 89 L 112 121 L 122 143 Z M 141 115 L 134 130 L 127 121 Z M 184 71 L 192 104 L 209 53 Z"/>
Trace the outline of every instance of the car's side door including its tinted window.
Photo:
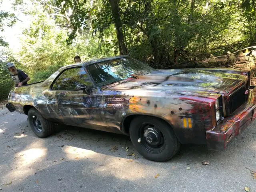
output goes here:
<path id="1" fill-rule="evenodd" d="M 68 68 L 56 78 L 55 114 L 64 124 L 104 130 L 102 92 L 95 88 L 83 67 Z"/>

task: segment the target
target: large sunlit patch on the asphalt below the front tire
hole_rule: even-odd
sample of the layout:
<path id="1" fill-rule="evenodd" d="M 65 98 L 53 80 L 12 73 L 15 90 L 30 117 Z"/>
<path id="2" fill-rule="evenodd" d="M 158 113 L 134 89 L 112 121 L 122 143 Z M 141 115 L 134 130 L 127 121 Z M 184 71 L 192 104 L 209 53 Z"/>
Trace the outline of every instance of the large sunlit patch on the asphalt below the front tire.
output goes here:
<path id="1" fill-rule="evenodd" d="M 68 160 L 90 161 L 92 166 L 95 167 L 93 168 L 95 174 L 112 176 L 122 180 L 139 180 L 146 178 L 148 172 L 155 173 L 158 171 L 153 166 L 145 166 L 134 158 L 120 158 L 73 146 L 64 146 L 63 151 L 66 153 L 66 158 Z M 92 167 L 89 169 L 91 168 Z M 88 167 L 85 167 L 84 169 L 84 172 L 88 172 Z"/>

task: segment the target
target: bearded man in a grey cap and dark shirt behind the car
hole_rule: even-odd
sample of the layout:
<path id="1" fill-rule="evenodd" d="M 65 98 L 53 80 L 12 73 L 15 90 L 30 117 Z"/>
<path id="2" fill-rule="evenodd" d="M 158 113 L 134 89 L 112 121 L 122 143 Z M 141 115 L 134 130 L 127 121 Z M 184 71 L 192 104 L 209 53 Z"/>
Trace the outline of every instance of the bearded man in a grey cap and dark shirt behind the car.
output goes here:
<path id="1" fill-rule="evenodd" d="M 21 87 L 28 84 L 27 82 L 30 80 L 29 76 L 27 76 L 22 70 L 17 70 L 13 63 L 7 63 L 7 68 L 12 80 L 14 81 L 15 87 Z"/>

